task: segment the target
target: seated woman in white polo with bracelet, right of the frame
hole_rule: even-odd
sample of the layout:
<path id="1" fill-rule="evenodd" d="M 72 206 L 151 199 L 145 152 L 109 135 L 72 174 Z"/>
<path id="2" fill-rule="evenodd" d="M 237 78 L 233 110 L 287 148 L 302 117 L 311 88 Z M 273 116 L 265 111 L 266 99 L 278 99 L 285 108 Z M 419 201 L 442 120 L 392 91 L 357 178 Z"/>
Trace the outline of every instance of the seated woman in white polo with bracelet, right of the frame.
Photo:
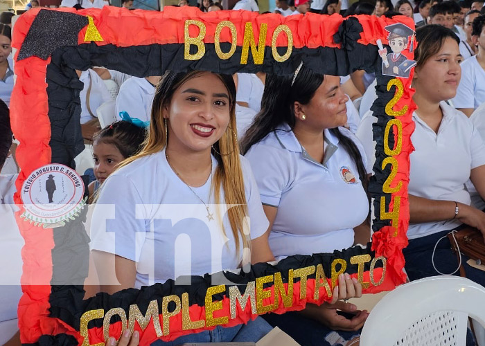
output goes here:
<path id="1" fill-rule="evenodd" d="M 455 96 L 461 77 L 459 39 L 438 25 L 418 28 L 416 39 L 413 86 L 418 109 L 413 114 L 414 152 L 409 156 L 409 244 L 403 250 L 410 280 L 440 272 L 459 275 L 458 260 L 446 235 L 463 224 L 485 231 L 485 212 L 470 206 L 465 188 L 471 179 L 485 196 L 485 145 L 464 113 L 445 102 Z M 367 128 L 360 127 L 358 136 L 373 156 L 369 117 L 367 113 L 362 120 Z M 466 276 L 485 285 L 485 273 L 468 266 L 466 260 L 463 256 Z"/>

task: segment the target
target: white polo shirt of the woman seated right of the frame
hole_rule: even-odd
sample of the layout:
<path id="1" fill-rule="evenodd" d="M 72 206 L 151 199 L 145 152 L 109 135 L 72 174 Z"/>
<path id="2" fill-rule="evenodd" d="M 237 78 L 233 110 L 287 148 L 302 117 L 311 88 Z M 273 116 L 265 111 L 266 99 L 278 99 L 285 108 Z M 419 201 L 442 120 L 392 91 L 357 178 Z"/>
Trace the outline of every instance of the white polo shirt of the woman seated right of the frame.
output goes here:
<path id="1" fill-rule="evenodd" d="M 411 136 L 414 152 L 409 155 L 410 172 L 408 192 L 417 197 L 441 201 L 457 201 L 470 204 L 470 194 L 465 183 L 470 179 L 470 170 L 485 165 L 485 144 L 473 123 L 446 102 L 440 103 L 443 120 L 434 132 L 413 113 L 416 128 Z M 372 141 L 371 111 L 364 116 L 358 129 L 368 160 L 374 160 L 375 142 Z M 367 128 L 367 129 L 364 129 Z M 415 239 L 452 230 L 461 224 L 458 220 L 432 221 L 409 224 L 407 237 Z"/>

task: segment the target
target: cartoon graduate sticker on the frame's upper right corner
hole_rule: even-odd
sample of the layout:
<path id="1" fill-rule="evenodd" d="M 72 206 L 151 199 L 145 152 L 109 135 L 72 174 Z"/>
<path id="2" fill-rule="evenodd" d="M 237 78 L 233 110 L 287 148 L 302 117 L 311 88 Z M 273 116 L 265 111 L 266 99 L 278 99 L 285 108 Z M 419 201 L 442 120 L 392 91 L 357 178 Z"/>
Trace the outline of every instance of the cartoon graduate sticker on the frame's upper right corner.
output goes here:
<path id="1" fill-rule="evenodd" d="M 392 53 L 387 54 L 387 48 L 384 48 L 382 42 L 378 39 L 379 55 L 382 57 L 382 74 L 409 78 L 409 71 L 416 66 L 416 62 L 407 59 L 403 55 L 403 51 L 407 48 L 408 43 L 411 42 L 409 52 L 412 53 L 414 30 L 401 23 L 388 25 L 385 29 L 389 32 L 387 40 Z"/>

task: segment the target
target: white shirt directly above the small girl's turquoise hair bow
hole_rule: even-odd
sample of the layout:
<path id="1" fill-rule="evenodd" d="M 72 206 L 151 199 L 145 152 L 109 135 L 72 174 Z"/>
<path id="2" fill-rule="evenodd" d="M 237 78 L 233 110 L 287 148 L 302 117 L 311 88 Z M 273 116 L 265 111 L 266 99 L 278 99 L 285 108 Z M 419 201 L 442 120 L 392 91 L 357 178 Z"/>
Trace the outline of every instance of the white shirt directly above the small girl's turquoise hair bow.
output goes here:
<path id="1" fill-rule="evenodd" d="M 154 97 L 155 86 L 148 80 L 129 78 L 121 85 L 116 97 L 116 116 L 120 118 L 120 112 L 125 111 L 132 118 L 149 121 Z"/>

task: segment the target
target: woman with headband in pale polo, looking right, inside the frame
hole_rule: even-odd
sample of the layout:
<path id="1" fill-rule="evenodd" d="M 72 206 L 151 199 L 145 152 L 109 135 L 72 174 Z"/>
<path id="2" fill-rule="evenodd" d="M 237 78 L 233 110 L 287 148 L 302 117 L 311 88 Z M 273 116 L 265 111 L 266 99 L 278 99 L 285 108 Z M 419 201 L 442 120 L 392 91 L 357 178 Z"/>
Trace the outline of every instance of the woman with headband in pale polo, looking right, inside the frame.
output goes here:
<path id="1" fill-rule="evenodd" d="M 294 75 L 267 76 L 261 112 L 242 147 L 270 220 L 269 242 L 276 258 L 332 253 L 369 242 L 370 227 L 362 226 L 369 213 L 365 155 L 343 127 L 347 100 L 339 77 L 304 65 Z M 357 228 L 362 237 L 355 237 Z M 359 296 L 362 287 L 354 284 L 348 293 Z M 355 306 L 342 305 L 339 309 L 355 313 Z M 285 313 L 265 318 L 301 345 L 345 345 L 358 336 L 367 312 L 345 318 L 333 307 L 311 305 L 304 317 Z"/>

